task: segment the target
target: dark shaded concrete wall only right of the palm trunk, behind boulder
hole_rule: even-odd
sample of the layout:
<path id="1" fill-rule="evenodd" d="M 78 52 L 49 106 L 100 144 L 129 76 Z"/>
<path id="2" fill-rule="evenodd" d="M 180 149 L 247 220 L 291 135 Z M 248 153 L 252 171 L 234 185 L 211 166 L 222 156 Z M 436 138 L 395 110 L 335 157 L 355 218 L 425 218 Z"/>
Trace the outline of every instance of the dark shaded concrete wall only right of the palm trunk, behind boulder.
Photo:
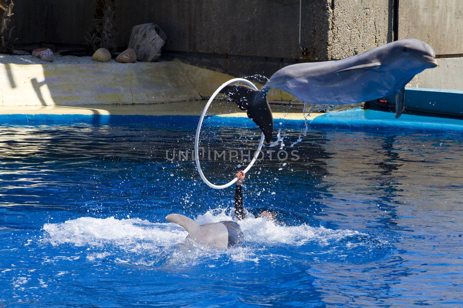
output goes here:
<path id="1" fill-rule="evenodd" d="M 119 1 L 119 44 L 131 26 L 155 22 L 168 35 L 165 49 L 206 54 L 301 59 L 299 0 Z M 324 58 L 329 24 L 326 0 L 304 0 L 303 44 L 308 58 Z"/>

